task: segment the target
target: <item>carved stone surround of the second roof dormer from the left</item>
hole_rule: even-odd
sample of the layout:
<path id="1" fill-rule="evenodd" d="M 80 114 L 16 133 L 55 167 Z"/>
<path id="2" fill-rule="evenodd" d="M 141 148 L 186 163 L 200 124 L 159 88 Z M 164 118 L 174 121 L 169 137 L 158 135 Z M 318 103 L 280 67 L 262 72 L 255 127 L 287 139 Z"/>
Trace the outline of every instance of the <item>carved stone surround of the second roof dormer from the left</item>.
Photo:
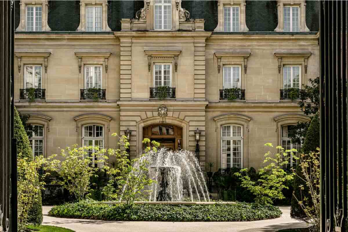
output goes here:
<path id="1" fill-rule="evenodd" d="M 87 31 L 86 6 L 102 7 L 102 31 L 111 31 L 108 25 L 108 1 L 107 0 L 85 0 L 80 1 L 80 25 L 76 31 Z"/>

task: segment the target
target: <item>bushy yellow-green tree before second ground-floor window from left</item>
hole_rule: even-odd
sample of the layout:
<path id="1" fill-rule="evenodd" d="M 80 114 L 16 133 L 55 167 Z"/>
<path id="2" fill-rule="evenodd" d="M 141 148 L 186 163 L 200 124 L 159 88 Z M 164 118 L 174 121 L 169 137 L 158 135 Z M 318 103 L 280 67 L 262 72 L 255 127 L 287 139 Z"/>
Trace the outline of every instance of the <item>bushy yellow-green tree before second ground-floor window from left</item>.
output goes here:
<path id="1" fill-rule="evenodd" d="M 94 151 L 88 154 L 88 151 Z M 89 193 L 91 182 L 90 178 L 96 176 L 97 167 L 94 163 L 103 163 L 108 159 L 104 155 L 105 149 L 99 150 L 98 147 L 84 146 L 78 147 L 74 144 L 72 147 L 66 147 L 66 150 L 61 150 L 61 156 L 65 158 L 64 161 L 54 160 L 50 163 L 50 169 L 56 171 L 62 181 L 53 181 L 62 185 L 74 194 L 76 199 L 83 200 Z M 93 157 L 95 161 L 93 163 Z"/>

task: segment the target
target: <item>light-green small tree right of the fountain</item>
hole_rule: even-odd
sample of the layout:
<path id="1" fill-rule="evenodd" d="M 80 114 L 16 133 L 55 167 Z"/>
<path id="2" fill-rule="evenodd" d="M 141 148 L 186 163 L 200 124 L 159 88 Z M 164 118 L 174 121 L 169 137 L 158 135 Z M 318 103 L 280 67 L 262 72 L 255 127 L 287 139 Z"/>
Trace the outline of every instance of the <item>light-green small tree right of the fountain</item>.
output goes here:
<path id="1" fill-rule="evenodd" d="M 271 143 L 266 143 L 265 146 L 273 147 Z M 295 152 L 295 150 L 284 151 L 281 146 L 276 148 L 280 150 L 280 153 L 273 155 L 269 151 L 264 155 L 263 163 L 267 163 L 267 165 L 259 170 L 260 178 L 257 181 L 251 179 L 247 168 L 240 170 L 239 173 L 235 173 L 242 181 L 241 185 L 256 196 L 254 199 L 256 203 L 269 204 L 274 199 L 284 199 L 282 190 L 288 189 L 285 182 L 293 179 L 294 174 L 286 173 L 283 166 L 288 163 L 288 155 Z"/>

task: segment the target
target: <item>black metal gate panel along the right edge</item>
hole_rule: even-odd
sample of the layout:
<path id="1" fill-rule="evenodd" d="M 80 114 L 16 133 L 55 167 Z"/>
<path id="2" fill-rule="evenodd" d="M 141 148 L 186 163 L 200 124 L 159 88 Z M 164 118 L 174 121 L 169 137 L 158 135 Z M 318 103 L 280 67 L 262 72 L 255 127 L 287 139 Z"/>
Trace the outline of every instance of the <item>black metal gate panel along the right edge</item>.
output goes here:
<path id="1" fill-rule="evenodd" d="M 321 231 L 345 232 L 347 202 L 347 2 L 321 1 Z"/>

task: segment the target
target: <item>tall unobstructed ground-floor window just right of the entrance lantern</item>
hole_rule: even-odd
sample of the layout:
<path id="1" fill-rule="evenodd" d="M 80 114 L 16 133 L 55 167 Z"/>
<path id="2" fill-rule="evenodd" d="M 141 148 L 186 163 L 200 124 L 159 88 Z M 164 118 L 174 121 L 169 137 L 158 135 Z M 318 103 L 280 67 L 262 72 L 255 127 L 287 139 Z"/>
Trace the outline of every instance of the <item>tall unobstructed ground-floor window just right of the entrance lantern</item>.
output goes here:
<path id="1" fill-rule="evenodd" d="M 242 126 L 222 126 L 221 147 L 222 168 L 241 168 L 243 154 Z"/>

